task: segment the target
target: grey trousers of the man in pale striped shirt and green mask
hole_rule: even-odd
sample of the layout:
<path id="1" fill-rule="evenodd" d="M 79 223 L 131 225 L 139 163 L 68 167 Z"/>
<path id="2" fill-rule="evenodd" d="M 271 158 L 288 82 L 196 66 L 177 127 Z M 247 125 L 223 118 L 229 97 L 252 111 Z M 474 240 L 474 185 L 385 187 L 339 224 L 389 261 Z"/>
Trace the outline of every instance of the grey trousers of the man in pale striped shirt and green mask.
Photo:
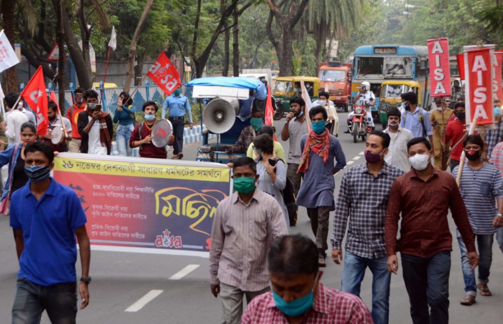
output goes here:
<path id="1" fill-rule="evenodd" d="M 256 296 L 268 292 L 269 287 L 259 291 L 243 291 L 237 287 L 220 282 L 220 298 L 222 299 L 223 324 L 239 324 L 243 314 L 243 296 L 246 304 Z"/>

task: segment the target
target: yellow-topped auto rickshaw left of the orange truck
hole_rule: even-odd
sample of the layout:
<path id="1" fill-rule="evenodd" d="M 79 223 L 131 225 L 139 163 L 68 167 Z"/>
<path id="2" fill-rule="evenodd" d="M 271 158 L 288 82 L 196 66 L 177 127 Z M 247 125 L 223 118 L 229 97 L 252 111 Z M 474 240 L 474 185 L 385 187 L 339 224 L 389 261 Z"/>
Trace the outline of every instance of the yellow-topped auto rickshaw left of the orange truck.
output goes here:
<path id="1" fill-rule="evenodd" d="M 320 87 L 318 78 L 305 76 L 278 77 L 273 91 L 276 98 L 275 120 L 283 118 L 285 112 L 290 112 L 290 99 L 301 96 L 301 81 L 304 81 L 305 85 L 307 83 L 311 84 L 312 89 L 309 90 L 311 100 L 318 99 L 318 89 Z"/>

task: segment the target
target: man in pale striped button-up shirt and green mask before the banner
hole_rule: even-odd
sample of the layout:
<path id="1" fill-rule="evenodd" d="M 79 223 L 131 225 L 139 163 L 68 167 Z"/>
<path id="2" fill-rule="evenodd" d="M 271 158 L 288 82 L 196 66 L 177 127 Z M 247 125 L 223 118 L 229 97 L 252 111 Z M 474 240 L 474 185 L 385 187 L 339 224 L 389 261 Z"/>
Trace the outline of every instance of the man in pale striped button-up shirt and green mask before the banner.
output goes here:
<path id="1" fill-rule="evenodd" d="M 239 323 L 243 295 L 249 303 L 269 290 L 266 256 L 274 239 L 288 233 L 278 201 L 256 188 L 255 161 L 239 157 L 233 166 L 234 192 L 213 218 L 210 248 L 211 293 L 220 294 L 223 323 Z"/>

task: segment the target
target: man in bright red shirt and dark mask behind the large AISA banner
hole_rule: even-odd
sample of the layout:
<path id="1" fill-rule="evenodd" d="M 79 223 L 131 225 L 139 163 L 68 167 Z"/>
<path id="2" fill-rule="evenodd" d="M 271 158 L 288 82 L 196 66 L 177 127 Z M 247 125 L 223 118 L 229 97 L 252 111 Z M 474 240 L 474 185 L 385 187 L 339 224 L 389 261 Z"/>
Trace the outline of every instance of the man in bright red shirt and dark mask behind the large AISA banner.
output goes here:
<path id="1" fill-rule="evenodd" d="M 463 138 L 467 133 L 465 126 L 464 102 L 456 102 L 453 115 L 455 115 L 456 118 L 447 123 L 445 131 L 445 143 L 449 144 L 449 141 L 451 142 L 449 144 L 451 147 L 451 172 L 459 165 L 459 159 L 461 158 L 461 153 L 463 152 Z"/>

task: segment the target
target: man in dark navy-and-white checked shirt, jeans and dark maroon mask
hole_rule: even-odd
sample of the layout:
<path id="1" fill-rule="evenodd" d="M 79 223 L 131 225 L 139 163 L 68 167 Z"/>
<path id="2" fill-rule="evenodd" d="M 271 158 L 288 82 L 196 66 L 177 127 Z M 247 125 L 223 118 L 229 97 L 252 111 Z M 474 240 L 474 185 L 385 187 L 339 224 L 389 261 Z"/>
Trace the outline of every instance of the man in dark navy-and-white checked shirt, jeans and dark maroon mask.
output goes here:
<path id="1" fill-rule="evenodd" d="M 391 274 L 386 266 L 384 219 L 391 185 L 403 174 L 384 161 L 390 140 L 383 131 L 370 133 L 365 148 L 367 163 L 344 174 L 331 237 L 332 260 L 341 264 L 342 241 L 349 217 L 341 290 L 359 296 L 368 267 L 372 271 L 372 318 L 376 324 L 387 323 L 389 318 Z"/>

